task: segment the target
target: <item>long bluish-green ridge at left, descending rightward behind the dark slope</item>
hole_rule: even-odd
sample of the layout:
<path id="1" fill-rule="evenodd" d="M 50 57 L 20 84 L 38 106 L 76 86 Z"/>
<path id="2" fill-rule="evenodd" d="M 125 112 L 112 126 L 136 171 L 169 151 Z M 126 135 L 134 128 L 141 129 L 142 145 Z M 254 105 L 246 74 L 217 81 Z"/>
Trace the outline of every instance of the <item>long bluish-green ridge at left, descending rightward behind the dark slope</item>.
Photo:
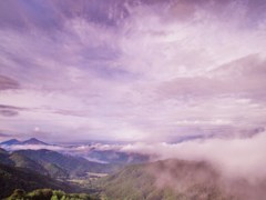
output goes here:
<path id="1" fill-rule="evenodd" d="M 52 178 L 68 179 L 83 177 L 88 172 L 111 172 L 116 166 L 89 161 L 81 157 L 59 153 L 51 150 L 17 150 L 8 152 L 0 149 L 0 163 L 30 169 Z"/>

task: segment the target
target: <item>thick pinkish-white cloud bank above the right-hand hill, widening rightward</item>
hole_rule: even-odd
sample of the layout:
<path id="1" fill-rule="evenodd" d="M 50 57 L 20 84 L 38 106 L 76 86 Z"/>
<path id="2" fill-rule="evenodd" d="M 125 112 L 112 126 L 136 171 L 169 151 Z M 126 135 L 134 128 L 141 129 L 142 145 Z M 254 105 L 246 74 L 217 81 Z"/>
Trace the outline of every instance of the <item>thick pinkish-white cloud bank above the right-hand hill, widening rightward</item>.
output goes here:
<path id="1" fill-rule="evenodd" d="M 211 162 L 225 177 L 265 179 L 266 134 L 252 138 L 193 140 L 176 144 L 129 144 L 123 151 L 155 154 L 160 159 L 183 159 Z M 156 158 L 155 157 L 155 158 Z"/>

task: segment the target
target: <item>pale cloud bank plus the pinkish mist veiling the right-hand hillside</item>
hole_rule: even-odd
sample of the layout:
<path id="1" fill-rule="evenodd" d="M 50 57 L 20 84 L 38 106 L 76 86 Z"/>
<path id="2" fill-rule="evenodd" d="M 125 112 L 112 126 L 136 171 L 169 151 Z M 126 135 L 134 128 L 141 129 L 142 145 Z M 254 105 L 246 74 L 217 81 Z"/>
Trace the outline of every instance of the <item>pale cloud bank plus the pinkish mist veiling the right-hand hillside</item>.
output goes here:
<path id="1" fill-rule="evenodd" d="M 190 187 L 205 187 L 207 199 L 215 191 L 225 199 L 263 199 L 266 194 L 265 132 L 250 138 L 200 139 L 181 143 L 139 143 L 123 151 L 152 154 L 147 172 L 155 177 L 158 189 L 191 193 Z M 160 163 L 160 161 L 162 161 Z M 196 190 L 194 191 L 196 192 Z M 214 197 L 215 198 L 215 197 Z"/>

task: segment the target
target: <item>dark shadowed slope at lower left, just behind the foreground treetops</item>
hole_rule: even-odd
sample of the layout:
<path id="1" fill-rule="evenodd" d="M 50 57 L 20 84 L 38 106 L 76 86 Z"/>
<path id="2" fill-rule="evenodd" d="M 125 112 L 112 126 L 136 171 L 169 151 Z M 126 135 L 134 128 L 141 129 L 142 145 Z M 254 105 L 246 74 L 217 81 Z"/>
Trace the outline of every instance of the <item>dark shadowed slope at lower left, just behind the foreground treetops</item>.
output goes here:
<path id="1" fill-rule="evenodd" d="M 0 199 L 9 197 L 14 189 L 31 191 L 39 188 L 71 190 L 71 187 L 23 168 L 0 163 Z"/>

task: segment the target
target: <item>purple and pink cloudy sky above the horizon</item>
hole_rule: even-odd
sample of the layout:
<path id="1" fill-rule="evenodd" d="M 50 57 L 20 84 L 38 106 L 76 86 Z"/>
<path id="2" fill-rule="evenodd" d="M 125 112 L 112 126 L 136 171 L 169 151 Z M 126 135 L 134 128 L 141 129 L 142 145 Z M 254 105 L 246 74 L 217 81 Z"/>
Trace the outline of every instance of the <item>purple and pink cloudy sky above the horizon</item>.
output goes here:
<path id="1" fill-rule="evenodd" d="M 0 1 L 0 139 L 265 131 L 266 1 Z"/>

